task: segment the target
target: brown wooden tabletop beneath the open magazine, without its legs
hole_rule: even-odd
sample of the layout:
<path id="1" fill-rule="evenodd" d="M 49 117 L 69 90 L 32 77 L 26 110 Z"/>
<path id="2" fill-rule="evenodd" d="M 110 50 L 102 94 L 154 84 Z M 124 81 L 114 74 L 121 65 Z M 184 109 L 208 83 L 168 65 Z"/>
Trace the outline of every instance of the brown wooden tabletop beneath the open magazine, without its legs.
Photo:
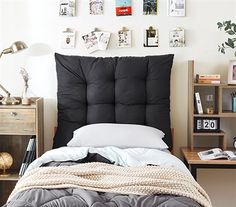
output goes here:
<path id="1" fill-rule="evenodd" d="M 208 150 L 209 148 L 194 148 L 191 151 L 188 147 L 181 147 L 181 153 L 184 156 L 188 164 L 206 164 L 206 165 L 236 165 L 236 160 L 217 159 L 217 160 L 201 160 L 198 156 L 198 152 Z M 236 151 L 236 149 L 229 149 Z"/>

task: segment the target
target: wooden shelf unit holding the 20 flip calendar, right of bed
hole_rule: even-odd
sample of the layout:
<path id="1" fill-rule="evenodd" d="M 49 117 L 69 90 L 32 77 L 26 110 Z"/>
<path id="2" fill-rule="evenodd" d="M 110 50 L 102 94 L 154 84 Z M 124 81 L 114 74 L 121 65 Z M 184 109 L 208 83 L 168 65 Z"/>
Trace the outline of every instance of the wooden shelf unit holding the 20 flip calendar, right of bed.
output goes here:
<path id="1" fill-rule="evenodd" d="M 191 60 L 188 62 L 188 147 L 191 150 L 194 150 L 196 145 L 205 147 L 201 142 L 202 139 L 196 141 L 196 137 L 206 139 L 210 137 L 211 139 L 218 139 L 218 145 L 226 149 L 228 131 L 222 131 L 220 123 L 224 122 L 222 118 L 236 118 L 236 112 L 234 113 L 231 110 L 231 96 L 236 92 L 236 85 L 228 85 L 223 82 L 220 84 L 196 83 L 195 77 L 194 61 Z M 201 100 L 199 101 L 198 99 L 198 104 L 196 104 L 195 101 L 196 94 L 198 97 L 200 96 Z M 209 102 L 209 96 L 213 97 L 211 102 Z M 201 104 L 199 104 L 199 102 L 201 102 Z M 203 114 L 198 114 L 197 112 L 201 108 L 203 108 L 203 110 L 201 110 Z M 207 114 L 212 108 L 213 114 Z M 217 133 L 214 127 L 207 128 L 204 126 L 205 124 L 210 125 L 210 123 L 213 123 L 212 126 L 214 127 L 219 127 L 217 129 L 221 129 L 221 131 Z M 212 140 L 209 140 L 208 142 L 211 143 L 211 141 Z M 212 145 L 216 145 L 217 142 L 213 143 Z"/>

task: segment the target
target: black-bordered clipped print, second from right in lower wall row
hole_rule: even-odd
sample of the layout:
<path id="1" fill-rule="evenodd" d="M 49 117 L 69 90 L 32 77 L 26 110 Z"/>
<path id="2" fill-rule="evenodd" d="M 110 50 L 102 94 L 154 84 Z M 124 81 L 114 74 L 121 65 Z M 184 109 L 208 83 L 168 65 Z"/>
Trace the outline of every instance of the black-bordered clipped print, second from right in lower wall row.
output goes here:
<path id="1" fill-rule="evenodd" d="M 144 47 L 158 47 L 159 46 L 159 36 L 158 29 L 150 26 L 144 31 Z"/>

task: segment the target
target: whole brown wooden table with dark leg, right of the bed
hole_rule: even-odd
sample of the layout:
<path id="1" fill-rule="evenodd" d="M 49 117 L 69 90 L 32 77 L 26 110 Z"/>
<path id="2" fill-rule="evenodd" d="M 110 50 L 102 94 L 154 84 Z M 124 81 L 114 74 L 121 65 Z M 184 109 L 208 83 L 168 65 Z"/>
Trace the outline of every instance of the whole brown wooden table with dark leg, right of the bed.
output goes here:
<path id="1" fill-rule="evenodd" d="M 197 180 L 198 168 L 221 168 L 221 169 L 236 169 L 236 161 L 218 159 L 218 160 L 201 160 L 198 157 L 198 152 L 207 150 L 207 148 L 181 147 L 181 153 L 184 156 L 184 163 L 189 168 L 191 174 Z"/>

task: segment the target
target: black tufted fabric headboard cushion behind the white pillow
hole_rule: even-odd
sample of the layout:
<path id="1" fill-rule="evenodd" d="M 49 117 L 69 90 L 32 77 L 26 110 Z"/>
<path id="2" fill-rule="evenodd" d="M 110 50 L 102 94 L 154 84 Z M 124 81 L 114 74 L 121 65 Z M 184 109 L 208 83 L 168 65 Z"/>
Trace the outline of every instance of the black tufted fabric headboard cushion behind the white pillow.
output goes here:
<path id="1" fill-rule="evenodd" d="M 58 127 L 53 148 L 73 131 L 93 123 L 128 123 L 170 129 L 170 74 L 173 55 L 83 57 L 55 54 Z M 144 137 L 145 139 L 145 137 Z"/>

